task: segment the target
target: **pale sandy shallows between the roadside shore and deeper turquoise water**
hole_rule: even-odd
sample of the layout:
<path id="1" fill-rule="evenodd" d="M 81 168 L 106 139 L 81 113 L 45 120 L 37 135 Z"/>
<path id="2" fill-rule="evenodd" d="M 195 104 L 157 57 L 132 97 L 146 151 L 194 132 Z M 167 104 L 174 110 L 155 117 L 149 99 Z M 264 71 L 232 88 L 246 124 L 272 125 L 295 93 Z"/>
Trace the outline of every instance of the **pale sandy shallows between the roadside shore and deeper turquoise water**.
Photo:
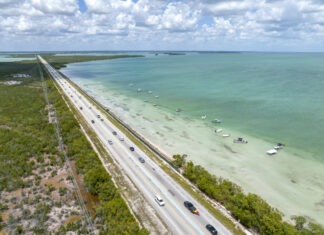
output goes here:
<path id="1" fill-rule="evenodd" d="M 323 184 L 320 180 L 324 177 L 321 172 L 323 166 L 303 159 L 302 154 L 306 153 L 297 156 L 296 151 L 288 146 L 277 156 L 269 157 L 265 151 L 273 147 L 271 143 L 246 137 L 249 144 L 233 144 L 234 136 L 242 136 L 233 131 L 230 131 L 230 139 L 217 139 L 210 126 L 198 120 L 167 113 L 150 103 L 124 97 L 98 84 L 83 84 L 75 80 L 78 79 L 73 81 L 90 96 L 170 157 L 177 153 L 188 154 L 189 160 L 202 165 L 212 174 L 228 178 L 246 192 L 260 195 L 282 211 L 287 220 L 291 215 L 303 215 L 321 222 L 320 218 L 324 216 Z M 152 112 L 156 113 L 153 118 Z M 209 134 L 201 140 L 199 133 Z M 208 148 L 208 145 L 213 147 Z"/>

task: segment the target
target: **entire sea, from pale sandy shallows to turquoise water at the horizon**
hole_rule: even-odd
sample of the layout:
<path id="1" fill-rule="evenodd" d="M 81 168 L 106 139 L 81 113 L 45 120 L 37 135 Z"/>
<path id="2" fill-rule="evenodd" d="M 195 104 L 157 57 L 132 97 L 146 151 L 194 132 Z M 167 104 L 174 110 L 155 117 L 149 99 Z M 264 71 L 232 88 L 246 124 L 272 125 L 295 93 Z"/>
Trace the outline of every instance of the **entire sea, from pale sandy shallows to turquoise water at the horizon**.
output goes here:
<path id="1" fill-rule="evenodd" d="M 324 223 L 324 54 L 137 54 L 61 71 L 169 155 L 188 154 L 287 219 Z"/>

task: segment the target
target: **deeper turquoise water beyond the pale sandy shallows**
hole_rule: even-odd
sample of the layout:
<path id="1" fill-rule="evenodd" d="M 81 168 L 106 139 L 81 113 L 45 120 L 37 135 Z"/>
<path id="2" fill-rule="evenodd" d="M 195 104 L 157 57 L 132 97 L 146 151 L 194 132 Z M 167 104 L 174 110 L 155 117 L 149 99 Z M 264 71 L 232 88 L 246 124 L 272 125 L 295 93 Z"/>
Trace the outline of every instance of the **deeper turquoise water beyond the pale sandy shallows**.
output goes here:
<path id="1" fill-rule="evenodd" d="M 208 125 L 221 119 L 224 127 L 283 142 L 324 162 L 323 64 L 324 54 L 146 54 L 70 64 L 63 72 L 172 113 L 180 108 L 190 119 L 207 115 Z"/>

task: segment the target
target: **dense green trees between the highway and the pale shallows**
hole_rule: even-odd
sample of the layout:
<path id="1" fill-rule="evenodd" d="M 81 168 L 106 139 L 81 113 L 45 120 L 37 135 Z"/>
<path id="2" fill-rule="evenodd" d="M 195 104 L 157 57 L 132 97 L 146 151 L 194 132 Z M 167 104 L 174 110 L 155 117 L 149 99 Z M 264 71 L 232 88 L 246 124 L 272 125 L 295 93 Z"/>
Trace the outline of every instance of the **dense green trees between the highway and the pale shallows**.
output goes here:
<path id="1" fill-rule="evenodd" d="M 178 161 L 180 155 L 174 157 Z M 318 224 L 308 223 L 302 216 L 294 216 L 295 227 L 284 222 L 282 214 L 258 195 L 248 193 L 229 180 L 211 175 L 199 165 L 189 161 L 183 164 L 183 175 L 202 192 L 223 204 L 234 218 L 258 234 L 324 234 Z"/>

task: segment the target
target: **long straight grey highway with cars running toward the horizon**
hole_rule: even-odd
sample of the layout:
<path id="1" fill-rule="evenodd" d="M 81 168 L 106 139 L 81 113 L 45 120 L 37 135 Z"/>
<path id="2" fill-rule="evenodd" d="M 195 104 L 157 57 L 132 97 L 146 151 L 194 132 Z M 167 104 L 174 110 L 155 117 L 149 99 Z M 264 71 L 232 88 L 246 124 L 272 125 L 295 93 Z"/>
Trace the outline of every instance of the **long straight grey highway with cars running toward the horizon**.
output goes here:
<path id="1" fill-rule="evenodd" d="M 211 234 L 206 225 L 213 225 L 218 234 L 232 234 L 226 227 L 217 221 L 202 205 L 187 193 L 175 180 L 167 175 L 153 160 L 117 129 L 106 115 L 92 105 L 87 98 L 79 93 L 41 56 L 41 63 L 46 67 L 53 79 L 69 97 L 71 103 L 80 111 L 85 120 L 92 126 L 93 131 L 106 148 L 108 153 L 123 168 L 128 177 L 144 195 L 146 200 L 167 224 L 172 234 Z M 130 147 L 134 148 L 131 151 Z M 142 157 L 145 162 L 141 162 Z M 160 206 L 155 201 L 158 194 L 165 205 Z M 200 212 L 200 215 L 191 213 L 184 201 L 190 201 Z"/>

